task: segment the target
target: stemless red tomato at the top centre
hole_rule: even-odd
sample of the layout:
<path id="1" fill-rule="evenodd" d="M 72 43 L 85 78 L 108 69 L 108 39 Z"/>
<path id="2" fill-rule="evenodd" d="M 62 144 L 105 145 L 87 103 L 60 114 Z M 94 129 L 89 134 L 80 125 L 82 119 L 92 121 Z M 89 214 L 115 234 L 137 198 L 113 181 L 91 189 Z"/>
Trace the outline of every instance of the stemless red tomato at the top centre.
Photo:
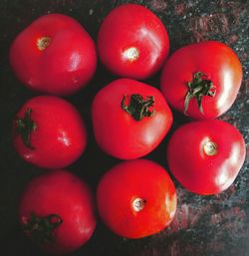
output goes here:
<path id="1" fill-rule="evenodd" d="M 104 19 L 98 35 L 103 64 L 114 74 L 146 79 L 157 72 L 169 49 L 162 22 L 141 5 L 123 4 Z"/>

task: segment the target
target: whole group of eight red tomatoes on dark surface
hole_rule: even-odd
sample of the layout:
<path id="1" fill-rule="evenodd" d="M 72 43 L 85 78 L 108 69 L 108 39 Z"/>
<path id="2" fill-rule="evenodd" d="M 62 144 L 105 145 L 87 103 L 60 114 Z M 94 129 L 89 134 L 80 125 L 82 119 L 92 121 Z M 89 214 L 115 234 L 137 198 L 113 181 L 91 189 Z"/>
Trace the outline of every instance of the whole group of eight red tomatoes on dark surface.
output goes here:
<path id="1" fill-rule="evenodd" d="M 102 63 L 123 78 L 95 96 L 94 134 L 106 153 L 125 161 L 101 178 L 97 206 L 107 226 L 127 238 L 159 232 L 175 214 L 176 191 L 166 170 L 137 159 L 151 152 L 171 127 L 167 103 L 199 120 L 176 129 L 166 149 L 169 169 L 186 189 L 199 194 L 223 191 L 245 158 L 240 132 L 214 120 L 231 107 L 239 91 L 242 69 L 236 55 L 215 41 L 182 47 L 166 60 L 168 49 L 165 27 L 140 5 L 115 8 L 99 31 Z M 18 153 L 36 166 L 53 169 L 27 185 L 20 223 L 45 250 L 68 253 L 92 236 L 95 199 L 83 180 L 63 169 L 82 155 L 88 136 L 77 109 L 58 96 L 76 93 L 93 78 L 95 43 L 74 19 L 49 14 L 16 37 L 10 63 L 23 84 L 50 95 L 30 99 L 14 120 Z M 136 81 L 160 68 L 161 92 Z"/>

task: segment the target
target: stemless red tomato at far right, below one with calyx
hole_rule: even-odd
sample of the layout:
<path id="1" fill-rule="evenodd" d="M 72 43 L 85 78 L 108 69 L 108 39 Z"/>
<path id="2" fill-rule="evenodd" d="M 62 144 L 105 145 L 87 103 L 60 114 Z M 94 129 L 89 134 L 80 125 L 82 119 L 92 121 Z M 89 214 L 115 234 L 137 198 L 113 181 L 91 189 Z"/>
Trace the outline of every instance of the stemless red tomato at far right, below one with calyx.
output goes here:
<path id="1" fill-rule="evenodd" d="M 178 128 L 167 146 L 176 179 L 198 194 L 216 194 L 234 181 L 245 160 L 245 141 L 228 123 L 198 121 Z"/>

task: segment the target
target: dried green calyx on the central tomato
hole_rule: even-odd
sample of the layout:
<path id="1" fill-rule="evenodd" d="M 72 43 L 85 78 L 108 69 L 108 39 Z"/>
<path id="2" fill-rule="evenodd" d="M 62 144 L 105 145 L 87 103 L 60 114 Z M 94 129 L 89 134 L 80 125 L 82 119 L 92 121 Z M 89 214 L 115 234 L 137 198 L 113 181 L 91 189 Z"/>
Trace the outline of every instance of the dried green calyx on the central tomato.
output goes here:
<path id="1" fill-rule="evenodd" d="M 138 94 L 133 94 L 130 97 L 128 105 L 125 105 L 127 96 L 124 96 L 122 100 L 122 109 L 129 114 L 135 121 L 140 121 L 144 117 L 152 117 L 154 115 L 154 110 L 151 111 L 150 108 L 153 107 L 154 97 L 147 96 L 144 100 L 142 96 Z"/>

